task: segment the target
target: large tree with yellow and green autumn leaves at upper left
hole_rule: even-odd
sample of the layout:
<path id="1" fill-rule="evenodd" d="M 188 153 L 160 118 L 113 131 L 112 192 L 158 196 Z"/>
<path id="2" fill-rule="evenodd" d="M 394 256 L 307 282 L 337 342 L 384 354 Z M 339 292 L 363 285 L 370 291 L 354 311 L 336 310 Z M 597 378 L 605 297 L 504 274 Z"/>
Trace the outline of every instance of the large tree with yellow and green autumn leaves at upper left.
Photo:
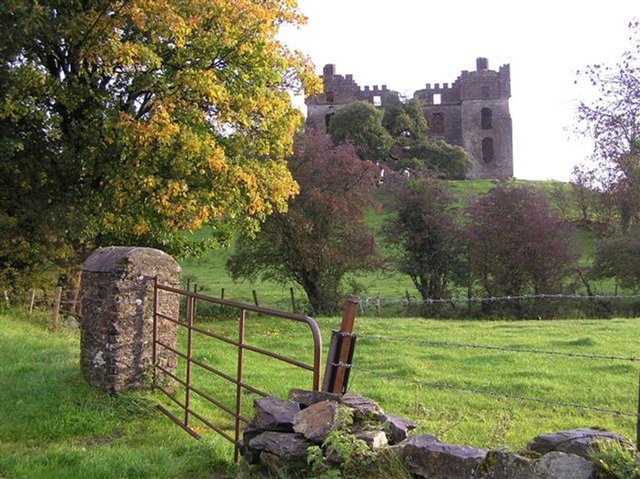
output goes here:
<path id="1" fill-rule="evenodd" d="M 0 5 L 0 274 L 107 244 L 198 246 L 286 208 L 306 58 L 295 0 Z M 200 245 L 202 246 L 202 245 Z"/>

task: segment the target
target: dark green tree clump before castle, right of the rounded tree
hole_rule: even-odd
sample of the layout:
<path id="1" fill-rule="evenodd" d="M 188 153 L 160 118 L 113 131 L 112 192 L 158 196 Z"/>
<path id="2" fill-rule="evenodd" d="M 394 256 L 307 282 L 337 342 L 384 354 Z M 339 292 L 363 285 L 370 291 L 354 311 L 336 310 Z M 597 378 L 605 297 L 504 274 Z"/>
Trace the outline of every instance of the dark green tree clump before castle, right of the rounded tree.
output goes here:
<path id="1" fill-rule="evenodd" d="M 428 137 L 420 102 L 411 99 L 402 103 L 397 95 L 390 94 L 383 105 L 382 125 L 395 141 L 390 155 L 395 160 L 393 169 L 408 169 L 446 179 L 466 177 L 472 166 L 467 152 L 459 146 Z"/>

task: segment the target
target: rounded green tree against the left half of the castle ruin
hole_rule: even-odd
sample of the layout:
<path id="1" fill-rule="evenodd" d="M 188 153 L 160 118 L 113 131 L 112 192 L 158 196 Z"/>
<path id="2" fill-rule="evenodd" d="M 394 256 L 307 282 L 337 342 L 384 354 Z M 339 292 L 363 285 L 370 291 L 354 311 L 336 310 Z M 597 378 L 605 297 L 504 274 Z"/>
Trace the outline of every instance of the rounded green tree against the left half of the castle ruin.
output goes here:
<path id="1" fill-rule="evenodd" d="M 328 133 L 334 144 L 351 142 L 363 160 L 381 162 L 387 157 L 393 139 L 382 127 L 382 111 L 371 103 L 355 101 L 336 111 Z"/>

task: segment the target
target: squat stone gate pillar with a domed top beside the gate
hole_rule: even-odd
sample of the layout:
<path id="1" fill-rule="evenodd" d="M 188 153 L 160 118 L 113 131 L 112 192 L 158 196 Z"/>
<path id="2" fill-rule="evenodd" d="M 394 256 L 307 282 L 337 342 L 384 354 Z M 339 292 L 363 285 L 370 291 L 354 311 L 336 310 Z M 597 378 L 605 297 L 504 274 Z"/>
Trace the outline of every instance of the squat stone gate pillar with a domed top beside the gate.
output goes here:
<path id="1" fill-rule="evenodd" d="M 151 384 L 154 279 L 178 287 L 180 266 L 151 248 L 108 247 L 82 264 L 80 367 L 85 380 L 111 394 Z M 158 309 L 177 318 L 179 298 L 159 291 Z M 175 349 L 176 326 L 162 321 L 158 339 Z M 158 350 L 173 371 L 175 354 Z"/>

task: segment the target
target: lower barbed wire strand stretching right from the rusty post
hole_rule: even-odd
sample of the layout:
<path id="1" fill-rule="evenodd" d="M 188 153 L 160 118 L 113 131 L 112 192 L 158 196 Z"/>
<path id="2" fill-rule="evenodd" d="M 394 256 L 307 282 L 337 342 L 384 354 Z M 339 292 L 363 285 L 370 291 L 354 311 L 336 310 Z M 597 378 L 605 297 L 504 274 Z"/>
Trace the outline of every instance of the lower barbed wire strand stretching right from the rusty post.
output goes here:
<path id="1" fill-rule="evenodd" d="M 618 410 L 615 410 L 615 409 L 603 408 L 603 407 L 599 407 L 599 406 L 590 406 L 590 405 L 586 405 L 586 404 L 570 403 L 570 402 L 564 402 L 564 401 L 554 401 L 552 399 L 545 399 L 545 398 L 532 398 L 532 397 L 528 397 L 528 396 L 522 396 L 522 395 L 519 395 L 519 394 L 505 393 L 505 392 L 498 392 L 498 391 L 489 391 L 489 390 L 480 389 L 480 388 L 474 388 L 474 387 L 469 387 L 469 386 L 455 386 L 453 384 L 446 384 L 446 383 L 442 383 L 442 382 L 439 382 L 439 381 L 425 381 L 425 380 L 419 381 L 419 380 L 415 380 L 415 379 L 414 380 L 410 380 L 410 379 L 401 378 L 399 376 L 395 376 L 393 374 L 379 373 L 379 372 L 373 371 L 371 369 L 360 368 L 360 367 L 353 366 L 353 365 L 351 365 L 351 369 L 352 369 L 352 371 L 361 371 L 361 372 L 363 372 L 365 374 L 378 376 L 380 378 L 387 379 L 387 380 L 408 382 L 408 383 L 411 383 L 411 384 L 416 384 L 416 385 L 424 386 L 424 387 L 431 387 L 433 389 L 438 389 L 438 390 L 442 390 L 442 391 L 448 390 L 448 391 L 457 391 L 457 392 L 464 392 L 464 393 L 473 393 L 473 394 L 478 394 L 478 395 L 483 395 L 483 396 L 488 396 L 488 397 L 493 397 L 493 398 L 499 398 L 499 399 L 512 399 L 512 400 L 518 400 L 518 401 L 523 401 L 523 402 L 532 402 L 532 403 L 538 403 L 538 404 L 545 404 L 545 405 L 550 405 L 550 406 L 566 407 L 566 408 L 573 408 L 573 409 L 584 409 L 584 410 L 594 411 L 594 412 L 598 412 L 598 413 L 602 413 L 602 414 L 633 417 L 633 418 L 639 418 L 640 419 L 640 413 L 630 413 L 630 412 L 625 412 L 625 411 L 618 411 Z"/>

